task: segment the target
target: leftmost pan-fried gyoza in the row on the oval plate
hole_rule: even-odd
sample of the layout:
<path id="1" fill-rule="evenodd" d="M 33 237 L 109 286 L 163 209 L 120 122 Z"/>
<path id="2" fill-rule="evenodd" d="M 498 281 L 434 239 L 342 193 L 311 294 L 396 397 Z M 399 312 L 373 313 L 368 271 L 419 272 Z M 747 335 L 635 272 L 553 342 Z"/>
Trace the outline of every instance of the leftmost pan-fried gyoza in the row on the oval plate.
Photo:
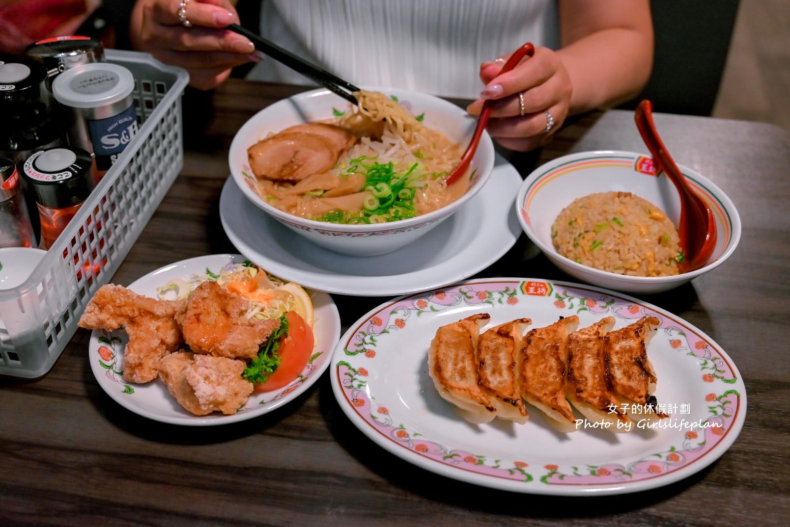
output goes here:
<path id="1" fill-rule="evenodd" d="M 428 349 L 428 374 L 434 379 L 439 395 L 453 403 L 457 412 L 470 423 L 487 423 L 496 409 L 478 384 L 477 341 L 480 328 L 491 316 L 472 315 L 436 330 Z"/>

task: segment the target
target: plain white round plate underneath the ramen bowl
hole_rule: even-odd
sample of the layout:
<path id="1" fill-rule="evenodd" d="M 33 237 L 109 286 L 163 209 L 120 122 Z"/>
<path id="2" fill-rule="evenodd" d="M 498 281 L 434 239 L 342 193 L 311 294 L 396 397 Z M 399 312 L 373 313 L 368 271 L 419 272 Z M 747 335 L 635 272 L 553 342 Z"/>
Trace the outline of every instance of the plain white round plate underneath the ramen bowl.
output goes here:
<path id="1" fill-rule="evenodd" d="M 311 244 L 246 199 L 232 178 L 220 219 L 233 245 L 273 275 L 310 289 L 358 297 L 416 293 L 459 282 L 499 260 L 521 227 L 514 200 L 521 176 L 497 155 L 486 186 L 414 244 L 383 256 L 344 256 Z"/>

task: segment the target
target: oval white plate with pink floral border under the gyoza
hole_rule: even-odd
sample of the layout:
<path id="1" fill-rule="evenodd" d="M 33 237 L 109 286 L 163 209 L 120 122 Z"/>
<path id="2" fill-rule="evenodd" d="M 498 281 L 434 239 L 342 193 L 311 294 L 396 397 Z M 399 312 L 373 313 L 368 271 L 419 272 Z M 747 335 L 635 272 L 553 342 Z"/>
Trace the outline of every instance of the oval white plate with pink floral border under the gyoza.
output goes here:
<path id="1" fill-rule="evenodd" d="M 468 424 L 436 391 L 427 349 L 439 326 L 478 312 L 491 314 L 487 327 L 521 317 L 544 327 L 570 315 L 585 327 L 611 315 L 619 328 L 657 316 L 648 357 L 656 398 L 670 414 L 660 420 L 664 428 L 563 434 L 529 405 L 527 424 Z M 340 339 L 330 373 L 348 418 L 391 453 L 446 477 L 533 494 L 620 494 L 671 484 L 724 454 L 746 417 L 738 369 L 690 323 L 612 291 L 532 278 L 481 278 L 374 308 Z"/>

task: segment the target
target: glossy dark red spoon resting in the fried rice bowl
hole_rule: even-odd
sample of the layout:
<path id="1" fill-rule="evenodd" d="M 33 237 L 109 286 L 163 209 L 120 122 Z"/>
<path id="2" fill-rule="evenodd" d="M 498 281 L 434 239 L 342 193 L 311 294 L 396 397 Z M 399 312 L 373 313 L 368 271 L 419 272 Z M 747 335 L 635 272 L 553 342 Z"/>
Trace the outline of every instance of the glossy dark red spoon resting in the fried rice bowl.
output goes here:
<path id="1" fill-rule="evenodd" d="M 680 222 L 678 236 L 683 260 L 678 263 L 680 272 L 694 271 L 708 263 L 716 247 L 716 221 L 708 204 L 691 189 L 688 181 L 675 165 L 653 123 L 653 105 L 645 99 L 634 113 L 637 128 L 653 155 L 653 161 L 675 184 L 680 194 Z"/>

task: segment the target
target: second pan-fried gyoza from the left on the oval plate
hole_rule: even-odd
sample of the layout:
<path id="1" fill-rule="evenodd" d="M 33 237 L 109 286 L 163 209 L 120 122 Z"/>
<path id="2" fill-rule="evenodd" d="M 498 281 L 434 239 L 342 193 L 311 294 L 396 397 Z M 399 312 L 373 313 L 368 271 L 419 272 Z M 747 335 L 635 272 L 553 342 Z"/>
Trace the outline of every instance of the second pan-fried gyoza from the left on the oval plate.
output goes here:
<path id="1" fill-rule="evenodd" d="M 477 364 L 480 387 L 488 395 L 500 419 L 524 424 L 529 413 L 516 385 L 516 354 L 529 319 L 517 319 L 492 327 L 480 335 Z"/>

